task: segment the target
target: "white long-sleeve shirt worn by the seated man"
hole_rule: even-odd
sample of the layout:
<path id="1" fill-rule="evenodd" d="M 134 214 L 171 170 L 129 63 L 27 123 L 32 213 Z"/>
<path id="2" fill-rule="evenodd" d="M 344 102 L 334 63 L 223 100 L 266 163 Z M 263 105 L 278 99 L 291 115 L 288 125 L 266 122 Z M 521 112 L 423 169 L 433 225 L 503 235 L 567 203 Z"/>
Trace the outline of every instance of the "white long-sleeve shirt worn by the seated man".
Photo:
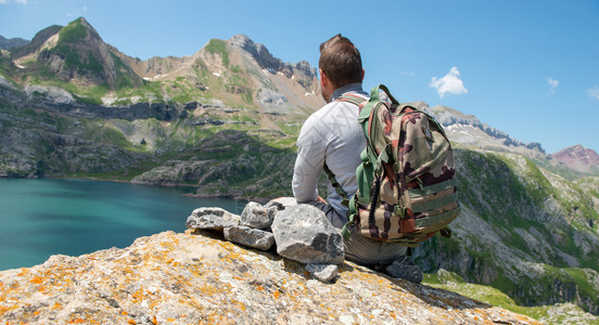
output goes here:
<path id="1" fill-rule="evenodd" d="M 356 168 L 361 162 L 360 153 L 366 147 L 366 136 L 358 123 L 358 106 L 344 101 L 335 102 L 345 93 L 368 99 L 361 83 L 341 87 L 331 95 L 331 102 L 315 112 L 300 131 L 292 181 L 297 203 L 318 199 L 317 183 L 324 162 L 349 197 L 357 192 Z M 341 195 L 330 181 L 328 184 L 327 200 L 340 214 L 345 216 L 347 208 L 341 205 Z"/>

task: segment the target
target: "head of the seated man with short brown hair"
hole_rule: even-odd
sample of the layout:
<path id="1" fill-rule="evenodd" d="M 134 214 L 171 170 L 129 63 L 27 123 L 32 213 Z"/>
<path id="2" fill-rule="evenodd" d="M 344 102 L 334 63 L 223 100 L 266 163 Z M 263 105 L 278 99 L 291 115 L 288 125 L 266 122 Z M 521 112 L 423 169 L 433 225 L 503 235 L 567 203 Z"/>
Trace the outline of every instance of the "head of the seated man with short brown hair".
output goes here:
<path id="1" fill-rule="evenodd" d="M 353 82 L 361 82 L 364 69 L 360 52 L 341 34 L 320 44 L 320 86 L 327 102 L 333 91 Z"/>

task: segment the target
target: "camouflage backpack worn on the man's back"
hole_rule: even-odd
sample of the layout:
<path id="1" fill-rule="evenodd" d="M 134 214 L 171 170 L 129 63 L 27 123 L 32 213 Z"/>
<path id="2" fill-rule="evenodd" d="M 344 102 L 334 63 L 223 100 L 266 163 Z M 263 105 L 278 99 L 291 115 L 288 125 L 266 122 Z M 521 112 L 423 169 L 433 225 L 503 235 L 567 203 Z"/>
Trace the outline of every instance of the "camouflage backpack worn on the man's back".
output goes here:
<path id="1" fill-rule="evenodd" d="M 381 100 L 380 90 L 390 101 Z M 358 121 L 367 138 L 344 237 L 349 226 L 373 239 L 412 247 L 438 231 L 449 236 L 447 225 L 461 208 L 454 153 L 443 127 L 416 105 L 399 104 L 383 84 L 372 89 L 367 102 L 352 95 L 340 100 L 359 105 Z M 330 170 L 327 173 L 343 192 Z"/>

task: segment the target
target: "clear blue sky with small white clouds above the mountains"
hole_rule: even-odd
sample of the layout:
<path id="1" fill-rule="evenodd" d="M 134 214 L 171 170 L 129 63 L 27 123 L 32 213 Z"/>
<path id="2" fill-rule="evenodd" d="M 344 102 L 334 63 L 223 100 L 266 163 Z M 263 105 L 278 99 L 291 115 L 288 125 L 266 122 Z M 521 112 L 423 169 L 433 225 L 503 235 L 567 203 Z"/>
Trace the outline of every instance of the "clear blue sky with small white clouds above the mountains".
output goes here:
<path id="1" fill-rule="evenodd" d="M 341 32 L 362 54 L 367 90 L 385 83 L 399 101 L 472 114 L 548 153 L 599 152 L 597 0 L 0 0 L 0 35 L 31 39 L 79 16 L 142 60 L 245 34 L 317 66 L 320 42 Z"/>

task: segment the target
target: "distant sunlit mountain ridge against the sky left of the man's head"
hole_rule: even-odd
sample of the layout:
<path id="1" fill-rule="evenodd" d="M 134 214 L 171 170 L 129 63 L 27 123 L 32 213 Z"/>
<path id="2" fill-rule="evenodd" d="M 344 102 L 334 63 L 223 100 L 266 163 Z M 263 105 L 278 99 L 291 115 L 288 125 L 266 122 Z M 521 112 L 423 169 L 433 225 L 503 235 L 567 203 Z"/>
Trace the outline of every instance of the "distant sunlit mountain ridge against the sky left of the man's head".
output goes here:
<path id="1" fill-rule="evenodd" d="M 323 104 L 315 68 L 306 62 L 283 63 L 246 36 L 213 39 L 190 56 L 141 61 L 106 44 L 79 17 L 64 27 L 44 28 L 11 55 L 14 64 L 5 79 L 23 88 L 63 88 L 77 101 L 105 106 L 228 98 L 231 106 L 306 115 Z"/>

